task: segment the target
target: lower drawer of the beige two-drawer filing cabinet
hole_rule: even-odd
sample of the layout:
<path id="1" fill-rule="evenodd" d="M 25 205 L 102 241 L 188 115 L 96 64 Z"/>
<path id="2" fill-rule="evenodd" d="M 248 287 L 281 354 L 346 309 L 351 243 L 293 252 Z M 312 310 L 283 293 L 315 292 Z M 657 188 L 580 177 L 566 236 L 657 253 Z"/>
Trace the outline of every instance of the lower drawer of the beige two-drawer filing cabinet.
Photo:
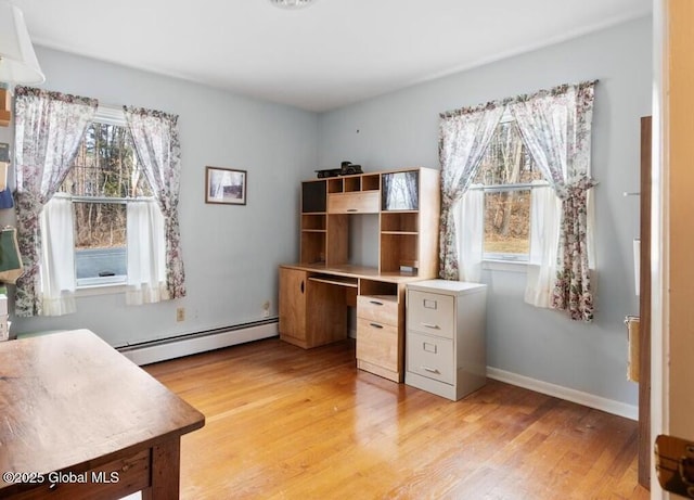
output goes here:
<path id="1" fill-rule="evenodd" d="M 453 341 L 408 332 L 408 372 L 453 384 Z"/>

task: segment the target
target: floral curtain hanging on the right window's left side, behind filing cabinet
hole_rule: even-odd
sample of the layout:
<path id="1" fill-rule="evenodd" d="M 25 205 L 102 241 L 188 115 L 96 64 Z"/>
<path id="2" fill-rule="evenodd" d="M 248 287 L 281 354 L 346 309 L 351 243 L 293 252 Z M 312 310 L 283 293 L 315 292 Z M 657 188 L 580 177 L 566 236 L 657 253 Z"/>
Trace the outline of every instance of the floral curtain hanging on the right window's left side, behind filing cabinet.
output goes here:
<path id="1" fill-rule="evenodd" d="M 504 106 L 488 103 L 440 115 L 441 217 L 439 277 L 459 280 L 458 235 L 453 207 L 470 187 Z M 465 277 L 462 277 L 465 278 Z"/>

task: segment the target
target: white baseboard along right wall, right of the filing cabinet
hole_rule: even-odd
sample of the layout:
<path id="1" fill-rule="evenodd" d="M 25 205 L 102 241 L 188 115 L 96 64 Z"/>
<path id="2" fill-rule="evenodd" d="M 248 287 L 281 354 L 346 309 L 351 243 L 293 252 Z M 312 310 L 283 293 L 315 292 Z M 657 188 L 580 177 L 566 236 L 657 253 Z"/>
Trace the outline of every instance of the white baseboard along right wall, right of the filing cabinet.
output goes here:
<path id="1" fill-rule="evenodd" d="M 548 382 L 538 381 L 528 376 L 518 375 L 498 368 L 487 367 L 487 376 L 507 384 L 517 385 L 536 393 L 547 394 L 567 401 L 577 402 L 589 408 L 602 410 L 607 413 L 624 416 L 630 420 L 639 420 L 639 407 L 627 405 L 626 402 L 615 401 L 614 399 L 603 398 L 593 394 L 582 393 L 580 390 L 570 389 L 561 385 L 550 384 Z"/>

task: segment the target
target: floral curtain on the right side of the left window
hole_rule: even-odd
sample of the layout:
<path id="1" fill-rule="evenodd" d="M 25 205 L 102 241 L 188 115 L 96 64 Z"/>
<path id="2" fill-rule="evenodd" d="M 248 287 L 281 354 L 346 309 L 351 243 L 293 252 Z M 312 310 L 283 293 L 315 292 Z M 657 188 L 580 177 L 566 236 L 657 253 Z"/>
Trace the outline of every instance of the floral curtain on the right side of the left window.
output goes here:
<path id="1" fill-rule="evenodd" d="M 124 106 L 124 113 L 138 158 L 164 216 L 168 296 L 184 297 L 185 273 L 178 218 L 181 174 L 178 116 L 129 106 Z"/>

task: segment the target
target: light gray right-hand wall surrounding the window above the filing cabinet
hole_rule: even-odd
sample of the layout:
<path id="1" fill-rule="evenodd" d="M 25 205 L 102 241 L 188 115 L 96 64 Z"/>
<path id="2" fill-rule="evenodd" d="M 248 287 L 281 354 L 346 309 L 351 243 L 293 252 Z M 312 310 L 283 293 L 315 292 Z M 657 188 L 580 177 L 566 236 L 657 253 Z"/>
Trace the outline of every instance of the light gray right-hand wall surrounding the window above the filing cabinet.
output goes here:
<path id="1" fill-rule="evenodd" d="M 639 234 L 639 119 L 651 113 L 651 18 L 389 93 L 319 118 L 319 163 L 365 170 L 438 168 L 438 113 L 597 78 L 593 116 L 597 289 L 592 324 L 523 302 L 525 273 L 486 271 L 488 363 L 635 405 L 626 380 L 625 315 L 638 313 L 632 240 Z M 363 225 L 365 230 L 373 228 Z"/>

